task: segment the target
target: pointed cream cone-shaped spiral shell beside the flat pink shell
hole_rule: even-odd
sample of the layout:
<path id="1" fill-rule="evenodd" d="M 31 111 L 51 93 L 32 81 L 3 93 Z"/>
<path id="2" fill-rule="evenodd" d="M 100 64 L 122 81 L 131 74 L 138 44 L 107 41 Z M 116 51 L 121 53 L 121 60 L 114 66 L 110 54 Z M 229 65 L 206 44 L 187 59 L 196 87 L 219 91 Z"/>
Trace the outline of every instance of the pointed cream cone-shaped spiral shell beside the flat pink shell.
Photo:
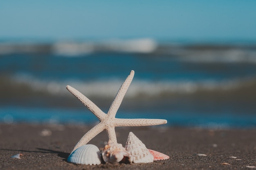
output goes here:
<path id="1" fill-rule="evenodd" d="M 132 132 L 129 133 L 126 141 L 126 150 L 132 155 L 134 163 L 149 163 L 154 161 L 146 146 Z"/>

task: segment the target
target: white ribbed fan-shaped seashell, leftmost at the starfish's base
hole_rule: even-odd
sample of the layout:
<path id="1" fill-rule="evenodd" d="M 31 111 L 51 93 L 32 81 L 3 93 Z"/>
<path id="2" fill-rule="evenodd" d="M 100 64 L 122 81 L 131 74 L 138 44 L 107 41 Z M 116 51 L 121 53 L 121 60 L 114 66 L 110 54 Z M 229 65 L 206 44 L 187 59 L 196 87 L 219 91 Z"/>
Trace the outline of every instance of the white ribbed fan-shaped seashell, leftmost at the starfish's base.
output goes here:
<path id="1" fill-rule="evenodd" d="M 74 150 L 67 161 L 85 165 L 99 165 L 101 164 L 99 148 L 92 144 L 83 145 Z"/>

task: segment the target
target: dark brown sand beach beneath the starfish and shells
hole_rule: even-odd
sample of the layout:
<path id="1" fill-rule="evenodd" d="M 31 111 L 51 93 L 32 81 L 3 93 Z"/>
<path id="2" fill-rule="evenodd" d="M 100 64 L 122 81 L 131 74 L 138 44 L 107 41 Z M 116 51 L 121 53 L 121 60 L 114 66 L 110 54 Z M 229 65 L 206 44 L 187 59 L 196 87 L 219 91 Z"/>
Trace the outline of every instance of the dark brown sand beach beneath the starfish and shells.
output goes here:
<path id="1" fill-rule="evenodd" d="M 153 163 L 116 163 L 97 166 L 66 161 L 76 142 L 91 127 L 63 125 L 0 124 L 0 170 L 241 170 L 256 169 L 256 129 L 202 130 L 196 128 L 116 128 L 117 141 L 125 145 L 132 131 L 147 148 L 170 159 Z M 42 134 L 45 132 L 45 136 Z M 90 144 L 99 148 L 107 141 L 106 131 Z M 10 158 L 18 153 L 21 159 Z M 207 156 L 198 156 L 205 154 Z M 237 158 L 232 158 L 237 157 Z M 228 163 L 228 164 L 227 164 Z"/>

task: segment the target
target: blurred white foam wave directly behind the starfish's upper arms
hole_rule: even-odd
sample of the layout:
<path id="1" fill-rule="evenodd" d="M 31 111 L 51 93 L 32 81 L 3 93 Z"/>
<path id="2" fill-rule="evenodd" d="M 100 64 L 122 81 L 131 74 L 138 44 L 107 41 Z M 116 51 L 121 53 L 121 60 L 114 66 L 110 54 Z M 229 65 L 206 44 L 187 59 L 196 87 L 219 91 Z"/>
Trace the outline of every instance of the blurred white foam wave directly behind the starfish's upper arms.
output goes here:
<path id="1" fill-rule="evenodd" d="M 92 82 L 81 82 L 79 80 L 49 81 L 40 80 L 27 75 L 13 77 L 13 83 L 22 83 L 29 86 L 33 91 L 43 91 L 53 95 L 70 95 L 66 86 L 70 85 L 86 96 L 115 97 L 123 80 L 98 80 Z M 149 82 L 143 80 L 133 80 L 126 97 L 138 96 L 160 96 L 173 93 L 191 94 L 197 91 L 231 90 L 243 86 L 245 83 L 255 81 L 251 79 L 233 79 L 224 81 L 202 80 L 193 81 L 162 81 Z"/>

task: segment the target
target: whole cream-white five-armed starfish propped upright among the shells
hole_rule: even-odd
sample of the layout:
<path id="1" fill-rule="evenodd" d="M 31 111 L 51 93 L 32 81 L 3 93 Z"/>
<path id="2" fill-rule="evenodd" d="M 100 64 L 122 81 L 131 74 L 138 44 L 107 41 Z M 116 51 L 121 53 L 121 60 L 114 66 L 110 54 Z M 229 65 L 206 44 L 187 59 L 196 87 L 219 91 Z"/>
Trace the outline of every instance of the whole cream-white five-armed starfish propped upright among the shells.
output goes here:
<path id="1" fill-rule="evenodd" d="M 112 142 L 117 143 L 117 137 L 115 133 L 115 127 L 118 126 L 153 126 L 153 125 L 160 125 L 166 124 L 167 120 L 165 119 L 120 119 L 115 118 L 117 110 L 121 105 L 121 102 L 124 98 L 130 83 L 132 82 L 132 78 L 134 76 L 134 71 L 130 72 L 130 75 L 126 78 L 122 86 L 120 87 L 117 95 L 112 102 L 108 113 L 104 113 L 98 106 L 96 106 L 90 99 L 85 97 L 82 93 L 77 91 L 75 88 L 67 85 L 67 90 L 70 91 L 77 99 L 79 99 L 98 119 L 99 124 L 94 126 L 91 130 L 89 130 L 76 144 L 74 150 L 87 144 L 92 138 L 98 135 L 103 130 L 107 130 L 108 139 Z M 71 152 L 71 153 L 72 153 Z"/>

